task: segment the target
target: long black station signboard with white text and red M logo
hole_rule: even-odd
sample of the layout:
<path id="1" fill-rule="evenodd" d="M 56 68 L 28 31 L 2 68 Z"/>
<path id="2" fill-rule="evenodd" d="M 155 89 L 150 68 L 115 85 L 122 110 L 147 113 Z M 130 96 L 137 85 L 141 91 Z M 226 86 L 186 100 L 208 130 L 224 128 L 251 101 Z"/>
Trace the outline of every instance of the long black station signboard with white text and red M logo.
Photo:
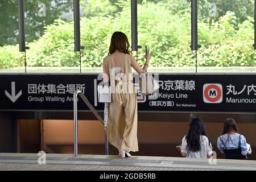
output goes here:
<path id="1" fill-rule="evenodd" d="M 0 75 L 0 110 L 73 110 L 75 90 L 81 90 L 96 110 L 104 110 L 97 102 L 97 77 Z M 137 94 L 138 110 L 256 113 L 256 75 L 159 74 L 159 85 L 157 96 Z M 88 110 L 81 99 L 78 107 Z"/>

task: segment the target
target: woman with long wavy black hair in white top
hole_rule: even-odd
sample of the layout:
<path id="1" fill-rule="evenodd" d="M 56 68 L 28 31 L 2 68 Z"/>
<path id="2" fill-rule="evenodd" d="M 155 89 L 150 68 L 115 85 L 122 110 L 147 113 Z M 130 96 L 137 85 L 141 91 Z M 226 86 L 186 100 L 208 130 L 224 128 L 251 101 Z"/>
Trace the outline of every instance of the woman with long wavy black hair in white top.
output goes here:
<path id="1" fill-rule="evenodd" d="M 176 148 L 185 158 L 212 157 L 212 144 L 207 137 L 204 123 L 200 117 L 191 118 L 188 134 L 183 137 L 181 146 Z"/>

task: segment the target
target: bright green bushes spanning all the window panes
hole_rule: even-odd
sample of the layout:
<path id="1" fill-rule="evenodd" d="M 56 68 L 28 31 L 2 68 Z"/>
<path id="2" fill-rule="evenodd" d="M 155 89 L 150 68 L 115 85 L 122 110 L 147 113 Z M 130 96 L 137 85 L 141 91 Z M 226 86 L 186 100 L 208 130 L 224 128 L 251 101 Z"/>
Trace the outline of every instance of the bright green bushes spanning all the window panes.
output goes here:
<path id="1" fill-rule="evenodd" d="M 195 66 L 191 44 L 190 3 L 187 1 L 141 1 L 138 5 L 138 63 L 144 63 L 144 46 L 151 50 L 151 67 Z M 203 0 L 202 0 L 203 1 Z M 100 67 L 108 55 L 114 31 L 124 32 L 131 40 L 130 1 L 88 1 L 88 14 L 81 18 L 82 67 Z M 109 6 L 110 5 L 110 6 Z M 106 9 L 106 6 L 109 6 Z M 89 8 L 90 7 L 90 8 Z M 106 10 L 106 11 L 105 11 Z M 116 11 L 115 11 L 116 10 Z M 110 13 L 113 11 L 115 13 Z M 89 13 L 90 12 L 90 13 Z M 254 18 L 228 12 L 217 20 L 199 20 L 199 66 L 255 66 Z M 44 27 L 44 35 L 28 43 L 27 65 L 31 67 L 78 67 L 74 52 L 73 23 L 56 19 Z M 130 41 L 131 42 L 131 41 Z M 17 46 L 0 47 L 0 68 L 24 64 Z"/>

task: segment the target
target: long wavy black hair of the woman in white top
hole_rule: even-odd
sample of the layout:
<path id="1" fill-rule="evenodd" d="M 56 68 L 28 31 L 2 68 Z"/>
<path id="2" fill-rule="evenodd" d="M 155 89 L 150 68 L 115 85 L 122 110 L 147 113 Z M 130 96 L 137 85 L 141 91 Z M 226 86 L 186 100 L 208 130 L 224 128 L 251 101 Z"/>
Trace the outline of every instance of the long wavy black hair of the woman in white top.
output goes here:
<path id="1" fill-rule="evenodd" d="M 205 135 L 208 138 L 202 119 L 199 116 L 191 118 L 188 134 L 186 136 L 188 150 L 193 152 L 198 152 L 201 150 L 201 135 Z"/>

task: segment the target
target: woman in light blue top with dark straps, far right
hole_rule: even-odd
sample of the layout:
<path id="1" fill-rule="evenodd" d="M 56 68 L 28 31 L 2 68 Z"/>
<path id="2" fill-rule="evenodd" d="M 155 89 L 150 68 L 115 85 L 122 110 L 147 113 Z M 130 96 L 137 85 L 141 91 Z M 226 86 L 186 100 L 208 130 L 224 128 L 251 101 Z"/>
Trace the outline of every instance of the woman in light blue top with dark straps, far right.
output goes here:
<path id="1" fill-rule="evenodd" d="M 247 154 L 251 154 L 251 147 L 247 147 L 245 137 L 237 131 L 236 121 L 226 119 L 223 133 L 217 140 L 217 147 L 226 155 L 226 159 L 247 159 Z"/>

